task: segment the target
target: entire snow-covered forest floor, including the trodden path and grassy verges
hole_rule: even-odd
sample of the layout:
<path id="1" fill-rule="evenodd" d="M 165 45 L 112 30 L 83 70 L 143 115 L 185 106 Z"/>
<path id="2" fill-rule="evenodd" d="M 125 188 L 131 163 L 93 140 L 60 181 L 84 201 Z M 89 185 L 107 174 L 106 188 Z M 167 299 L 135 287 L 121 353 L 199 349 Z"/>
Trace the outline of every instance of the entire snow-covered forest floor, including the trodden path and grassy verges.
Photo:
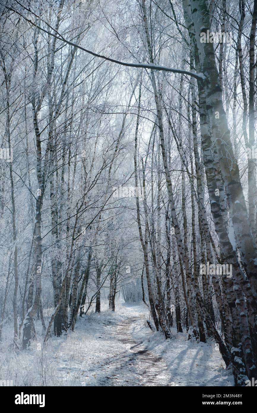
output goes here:
<path id="1" fill-rule="evenodd" d="M 172 339 L 146 326 L 146 306 L 117 305 L 116 312 L 80 318 L 76 329 L 52 337 L 41 350 L 1 349 L 0 379 L 33 386 L 233 386 L 212 342 L 188 340 L 172 329 Z"/>

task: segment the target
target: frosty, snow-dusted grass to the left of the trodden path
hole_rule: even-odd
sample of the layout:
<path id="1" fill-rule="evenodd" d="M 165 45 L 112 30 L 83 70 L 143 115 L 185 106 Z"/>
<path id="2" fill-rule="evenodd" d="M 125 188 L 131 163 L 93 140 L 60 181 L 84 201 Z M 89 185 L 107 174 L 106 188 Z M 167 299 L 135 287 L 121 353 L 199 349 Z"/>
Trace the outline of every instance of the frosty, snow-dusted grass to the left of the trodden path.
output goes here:
<path id="1" fill-rule="evenodd" d="M 116 305 L 117 313 L 108 310 L 107 301 L 101 303 L 101 310 L 100 314 L 90 312 L 85 318 L 78 318 L 75 331 L 52 336 L 45 347 L 41 323 L 36 321 L 37 341 L 28 351 L 14 351 L 12 328 L 3 330 L 0 380 L 12 380 L 14 386 L 95 385 L 94 369 L 102 358 L 113 354 L 113 336 L 106 330 L 113 330 L 126 315 L 126 308 L 120 303 Z"/>

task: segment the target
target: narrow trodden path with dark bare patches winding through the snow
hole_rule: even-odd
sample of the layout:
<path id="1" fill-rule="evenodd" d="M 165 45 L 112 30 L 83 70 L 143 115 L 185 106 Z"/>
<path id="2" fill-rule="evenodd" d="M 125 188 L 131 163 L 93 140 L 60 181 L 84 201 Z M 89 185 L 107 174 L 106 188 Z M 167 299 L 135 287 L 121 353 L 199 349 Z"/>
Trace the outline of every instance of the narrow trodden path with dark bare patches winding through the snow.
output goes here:
<path id="1" fill-rule="evenodd" d="M 108 375 L 101 377 L 100 386 L 174 385 L 163 358 L 140 340 L 144 324 L 144 313 L 140 310 L 141 307 L 128 307 L 128 317 L 113 329 L 113 355 L 102 366 L 103 370 L 108 368 Z M 116 354 L 120 347 L 124 350 Z"/>

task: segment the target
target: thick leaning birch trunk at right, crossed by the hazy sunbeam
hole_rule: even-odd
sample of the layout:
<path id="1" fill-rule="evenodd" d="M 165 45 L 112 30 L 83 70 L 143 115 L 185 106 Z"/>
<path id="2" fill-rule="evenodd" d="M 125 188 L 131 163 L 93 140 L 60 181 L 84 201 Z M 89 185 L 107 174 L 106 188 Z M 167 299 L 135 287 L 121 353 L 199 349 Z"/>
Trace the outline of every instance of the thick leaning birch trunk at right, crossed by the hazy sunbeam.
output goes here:
<path id="1" fill-rule="evenodd" d="M 219 76 L 212 43 L 201 43 L 200 33 L 210 29 L 209 10 L 206 0 L 191 0 L 196 43 L 203 73 L 203 88 L 210 126 L 224 180 L 227 201 L 233 222 L 241 260 L 253 290 L 257 290 L 257 248 L 252 236 L 248 211 L 240 182 L 238 164 L 233 154 L 226 113 L 222 102 Z"/>

